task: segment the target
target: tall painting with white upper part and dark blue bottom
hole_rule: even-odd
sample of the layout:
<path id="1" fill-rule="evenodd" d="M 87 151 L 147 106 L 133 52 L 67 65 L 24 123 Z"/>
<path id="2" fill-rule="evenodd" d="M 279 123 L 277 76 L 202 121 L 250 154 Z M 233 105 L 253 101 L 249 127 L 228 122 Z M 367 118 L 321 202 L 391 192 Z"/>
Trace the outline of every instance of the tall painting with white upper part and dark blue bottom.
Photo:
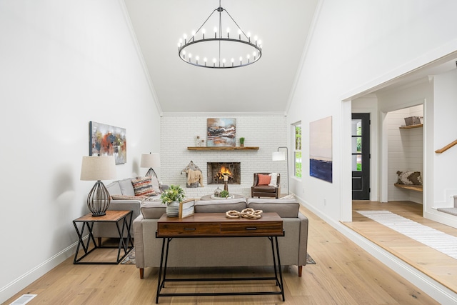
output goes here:
<path id="1" fill-rule="evenodd" d="M 309 124 L 309 175 L 332 182 L 331 116 Z"/>

